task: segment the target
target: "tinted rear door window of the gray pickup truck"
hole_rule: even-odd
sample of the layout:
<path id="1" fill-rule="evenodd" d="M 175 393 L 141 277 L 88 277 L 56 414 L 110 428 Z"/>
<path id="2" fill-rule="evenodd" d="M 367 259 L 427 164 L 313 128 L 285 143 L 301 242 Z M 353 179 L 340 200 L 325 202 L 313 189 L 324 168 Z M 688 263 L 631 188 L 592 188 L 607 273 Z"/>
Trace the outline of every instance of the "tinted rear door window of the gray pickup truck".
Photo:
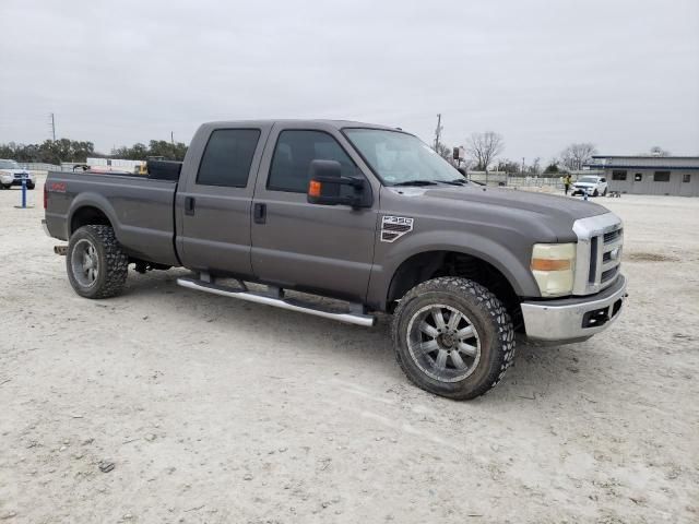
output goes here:
<path id="1" fill-rule="evenodd" d="M 197 183 L 245 188 L 259 139 L 259 129 L 215 130 L 202 155 Z"/>

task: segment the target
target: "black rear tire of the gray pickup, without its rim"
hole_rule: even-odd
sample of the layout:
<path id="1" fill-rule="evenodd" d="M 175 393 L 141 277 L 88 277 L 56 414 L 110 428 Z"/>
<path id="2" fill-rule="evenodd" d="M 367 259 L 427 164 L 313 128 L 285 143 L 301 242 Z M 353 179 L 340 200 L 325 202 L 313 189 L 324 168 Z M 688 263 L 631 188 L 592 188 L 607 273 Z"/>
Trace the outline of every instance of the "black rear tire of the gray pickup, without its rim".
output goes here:
<path id="1" fill-rule="evenodd" d="M 73 252 L 81 240 L 95 247 L 97 277 L 92 285 L 83 285 L 73 272 Z M 123 289 L 129 273 L 129 258 L 121 250 L 110 226 L 83 226 L 76 229 L 68 242 L 66 253 L 68 279 L 78 295 L 85 298 L 116 297 Z"/>

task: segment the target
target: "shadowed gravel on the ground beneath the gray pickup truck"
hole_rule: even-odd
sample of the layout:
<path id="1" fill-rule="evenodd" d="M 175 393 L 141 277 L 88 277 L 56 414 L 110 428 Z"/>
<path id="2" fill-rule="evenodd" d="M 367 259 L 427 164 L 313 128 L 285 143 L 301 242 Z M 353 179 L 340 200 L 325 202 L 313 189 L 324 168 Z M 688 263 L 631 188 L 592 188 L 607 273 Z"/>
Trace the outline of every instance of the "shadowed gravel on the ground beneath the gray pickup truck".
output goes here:
<path id="1" fill-rule="evenodd" d="M 161 317 L 176 323 L 199 323 L 202 331 L 223 334 L 232 341 L 239 340 L 241 331 L 261 343 L 270 338 L 283 341 L 299 354 L 299 358 L 332 359 L 331 365 L 347 364 L 353 369 L 366 369 L 367 373 L 384 381 L 410 386 L 411 396 L 434 396 L 410 385 L 395 362 L 390 315 L 379 314 L 377 325 L 371 329 L 344 324 L 177 285 L 179 276 L 190 274 L 186 270 L 145 275 L 130 272 L 122 299 L 133 305 L 157 303 Z M 472 402 L 510 404 L 526 400 L 541 404 L 565 402 L 566 397 L 579 400 L 581 392 L 584 393 L 585 386 L 590 385 L 589 379 L 599 372 L 600 362 L 594 360 L 597 355 L 593 354 L 607 353 L 590 350 L 594 349 L 595 342 L 596 338 L 585 344 L 542 347 L 518 337 L 514 364 L 502 382 L 487 395 Z M 230 350 L 238 347 L 232 344 Z"/>

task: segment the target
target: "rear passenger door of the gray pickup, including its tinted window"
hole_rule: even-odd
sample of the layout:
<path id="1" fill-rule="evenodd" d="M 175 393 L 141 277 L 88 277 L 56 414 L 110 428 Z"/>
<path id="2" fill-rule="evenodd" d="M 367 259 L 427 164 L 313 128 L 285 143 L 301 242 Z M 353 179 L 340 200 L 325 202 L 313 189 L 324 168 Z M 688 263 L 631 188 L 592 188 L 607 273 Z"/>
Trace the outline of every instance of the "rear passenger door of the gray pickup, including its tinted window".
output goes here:
<path id="1" fill-rule="evenodd" d="M 178 188 L 177 237 L 182 265 L 193 270 L 252 275 L 250 206 L 260 158 L 271 124 L 213 128 L 185 165 Z"/>

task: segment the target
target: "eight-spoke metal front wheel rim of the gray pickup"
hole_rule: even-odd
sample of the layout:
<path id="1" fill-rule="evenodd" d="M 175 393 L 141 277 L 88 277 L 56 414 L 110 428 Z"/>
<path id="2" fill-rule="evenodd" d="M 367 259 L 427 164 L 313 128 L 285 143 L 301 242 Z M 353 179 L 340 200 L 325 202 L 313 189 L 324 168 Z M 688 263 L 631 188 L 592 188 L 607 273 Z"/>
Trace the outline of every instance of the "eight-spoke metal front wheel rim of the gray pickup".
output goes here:
<path id="1" fill-rule="evenodd" d="M 458 382 L 481 360 L 481 338 L 469 317 L 443 303 L 419 309 L 407 325 L 407 348 L 413 361 L 428 377 Z"/>

